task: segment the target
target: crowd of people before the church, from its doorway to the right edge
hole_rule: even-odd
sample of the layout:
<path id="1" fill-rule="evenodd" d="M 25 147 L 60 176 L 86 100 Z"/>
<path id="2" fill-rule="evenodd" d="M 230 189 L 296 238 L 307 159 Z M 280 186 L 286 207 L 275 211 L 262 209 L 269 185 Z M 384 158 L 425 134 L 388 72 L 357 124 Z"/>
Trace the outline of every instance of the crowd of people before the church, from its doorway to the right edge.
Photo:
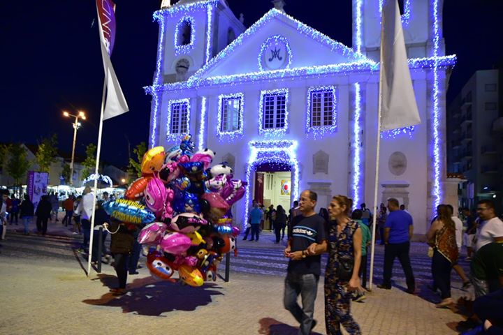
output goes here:
<path id="1" fill-rule="evenodd" d="M 392 269 L 398 258 L 404 271 L 409 294 L 416 292 L 416 280 L 410 261 L 414 222 L 411 214 L 396 199 L 377 208 L 376 236 L 372 237 L 373 214 L 366 205 L 351 211 L 353 202 L 344 195 L 332 198 L 327 209 L 314 211 L 317 195 L 306 190 L 294 202 L 287 216 L 281 206 L 264 209 L 256 200 L 249 211 L 251 240 L 258 240 L 263 221 L 270 220 L 279 243 L 281 230 L 288 228 L 284 256 L 289 265 L 284 284 L 284 307 L 299 322 L 299 334 L 309 334 L 316 326 L 314 301 L 321 274 L 322 253 L 328 253 L 325 271 L 325 327 L 327 334 L 361 334 L 351 315 L 351 301 L 363 301 L 367 290 L 367 246 L 372 238 L 384 245 L 384 271 L 378 288 L 391 290 Z M 462 280 L 462 290 L 473 286 L 474 320 L 479 326 L 466 334 L 503 334 L 503 222 L 495 214 L 490 200 L 481 200 L 476 214 L 461 208 L 462 219 L 450 204 L 441 204 L 425 238 L 432 258 L 432 285 L 439 291 L 437 308 L 455 304 L 451 297 L 452 269 Z M 464 221 L 464 222 L 463 222 Z M 462 246 L 467 247 L 470 274 L 458 264 Z M 300 304 L 298 297 L 300 296 Z M 483 301 L 483 302 L 482 302 Z M 492 309 L 491 309 L 492 308 Z"/>

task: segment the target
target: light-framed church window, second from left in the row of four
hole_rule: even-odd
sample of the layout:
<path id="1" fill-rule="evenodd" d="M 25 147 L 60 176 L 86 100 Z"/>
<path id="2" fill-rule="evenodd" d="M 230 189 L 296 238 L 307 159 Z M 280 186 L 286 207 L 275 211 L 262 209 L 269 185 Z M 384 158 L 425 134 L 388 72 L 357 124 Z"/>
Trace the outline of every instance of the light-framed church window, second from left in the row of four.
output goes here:
<path id="1" fill-rule="evenodd" d="M 242 133 L 243 94 L 219 96 L 219 135 Z"/>

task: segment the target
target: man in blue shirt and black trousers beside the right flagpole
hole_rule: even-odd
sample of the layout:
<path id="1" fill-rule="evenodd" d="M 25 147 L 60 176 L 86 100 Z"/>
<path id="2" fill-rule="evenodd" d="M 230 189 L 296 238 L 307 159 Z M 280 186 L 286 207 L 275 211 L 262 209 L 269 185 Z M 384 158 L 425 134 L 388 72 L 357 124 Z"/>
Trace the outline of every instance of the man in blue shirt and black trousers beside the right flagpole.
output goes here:
<path id="1" fill-rule="evenodd" d="M 377 287 L 391 290 L 393 262 L 398 257 L 407 281 L 406 292 L 414 294 L 416 281 L 409 257 L 410 239 L 414 231 L 412 216 L 406 211 L 400 211 L 398 200 L 394 198 L 388 200 L 388 209 L 390 214 L 384 224 L 384 275 L 383 282 Z"/>

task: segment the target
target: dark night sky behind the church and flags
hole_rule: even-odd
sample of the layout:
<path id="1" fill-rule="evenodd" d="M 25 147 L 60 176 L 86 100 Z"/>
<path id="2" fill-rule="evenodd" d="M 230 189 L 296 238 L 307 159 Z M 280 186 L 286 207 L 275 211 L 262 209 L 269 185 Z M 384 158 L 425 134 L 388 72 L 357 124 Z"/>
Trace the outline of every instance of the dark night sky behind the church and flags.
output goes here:
<path id="1" fill-rule="evenodd" d="M 418 1 L 418 0 L 411 0 Z M 148 139 L 150 96 L 159 25 L 152 13 L 160 0 L 116 0 L 117 34 L 112 64 L 130 112 L 107 120 L 101 160 L 127 164 L 131 149 Z M 270 0 L 228 0 L 249 27 L 265 14 Z M 287 0 L 286 13 L 331 38 L 351 46 L 351 0 Z M 446 0 L 446 54 L 457 54 L 448 100 L 476 70 L 503 59 L 503 1 Z M 103 64 L 93 0 L 1 1 L 0 142 L 36 144 L 58 135 L 59 149 L 71 153 L 73 128 L 62 110 L 85 110 L 78 131 L 77 154 L 97 142 L 103 89 Z"/>

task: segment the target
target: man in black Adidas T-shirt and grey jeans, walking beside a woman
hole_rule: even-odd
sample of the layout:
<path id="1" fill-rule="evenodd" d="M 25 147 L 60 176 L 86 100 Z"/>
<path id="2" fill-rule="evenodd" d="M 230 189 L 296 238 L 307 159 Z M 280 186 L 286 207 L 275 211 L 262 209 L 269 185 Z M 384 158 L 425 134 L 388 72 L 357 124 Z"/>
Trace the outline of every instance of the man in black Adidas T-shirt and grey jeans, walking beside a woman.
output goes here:
<path id="1" fill-rule="evenodd" d="M 290 238 L 283 251 L 284 256 L 289 258 L 284 283 L 284 307 L 300 323 L 300 335 L 309 334 L 316 326 L 313 315 L 321 272 L 320 254 L 327 248 L 325 222 L 314 211 L 317 200 L 315 192 L 302 191 L 298 207 L 301 214 L 292 220 Z M 309 249 L 309 246 L 312 248 Z M 302 308 L 297 302 L 299 295 Z"/>

